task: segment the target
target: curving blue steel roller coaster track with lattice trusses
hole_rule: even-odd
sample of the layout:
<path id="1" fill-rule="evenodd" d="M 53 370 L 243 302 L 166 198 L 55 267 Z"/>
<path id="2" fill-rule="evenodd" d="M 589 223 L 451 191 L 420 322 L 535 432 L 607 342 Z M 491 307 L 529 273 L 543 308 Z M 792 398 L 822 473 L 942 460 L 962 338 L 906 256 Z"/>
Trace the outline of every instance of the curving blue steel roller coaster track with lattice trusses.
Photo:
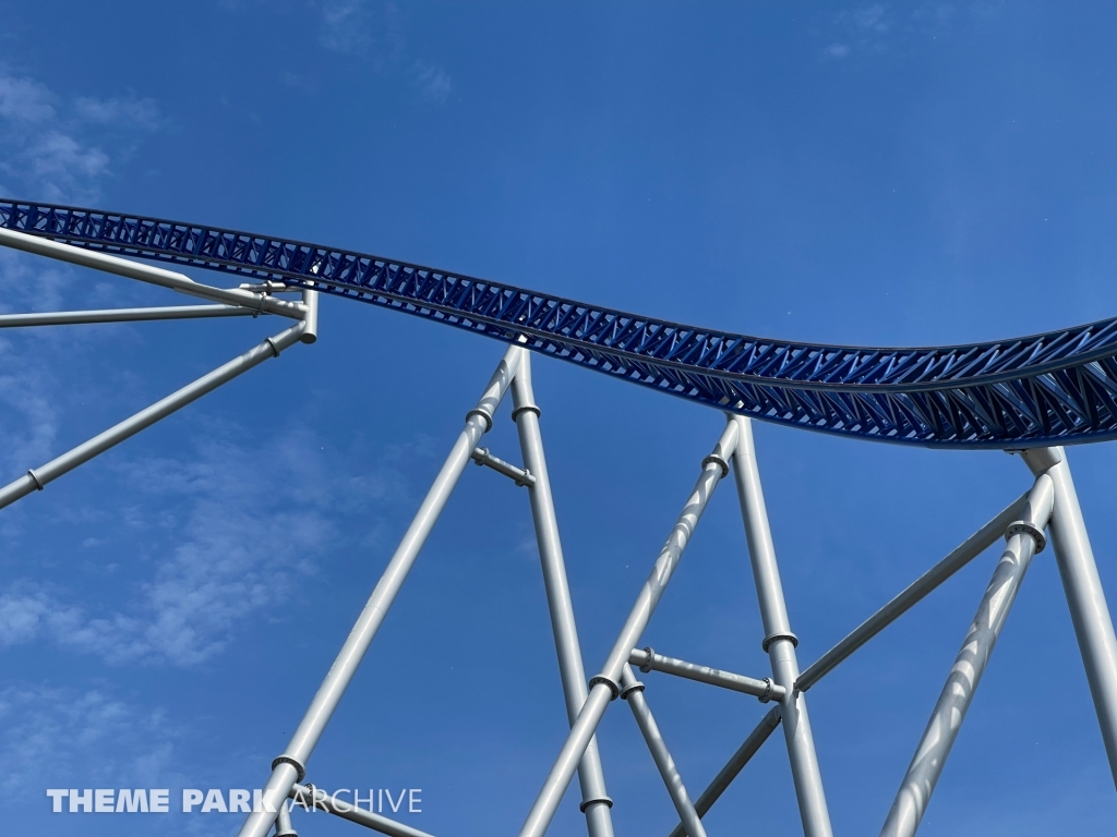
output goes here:
<path id="1" fill-rule="evenodd" d="M 420 264 L 154 218 L 0 200 L 0 225 L 432 319 L 722 411 L 844 436 L 1019 449 L 1117 437 L 1117 319 L 996 343 L 784 343 Z"/>

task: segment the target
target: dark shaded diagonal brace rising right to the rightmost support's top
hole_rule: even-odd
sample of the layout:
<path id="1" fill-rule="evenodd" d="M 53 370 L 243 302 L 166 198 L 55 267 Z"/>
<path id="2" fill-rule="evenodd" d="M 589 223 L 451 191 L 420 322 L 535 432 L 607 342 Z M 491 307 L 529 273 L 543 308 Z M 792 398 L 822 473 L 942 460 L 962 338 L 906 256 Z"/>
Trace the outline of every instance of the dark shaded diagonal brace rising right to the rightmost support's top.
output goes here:
<path id="1" fill-rule="evenodd" d="M 849 636 L 811 663 L 799 675 L 795 689 L 805 692 L 896 619 L 906 614 L 932 590 L 953 576 L 970 561 L 989 549 L 1004 535 L 1005 527 L 1020 516 L 1028 494 L 1013 500 L 1000 514 L 966 538 L 957 549 L 913 581 L 903 593 L 862 622 Z"/>

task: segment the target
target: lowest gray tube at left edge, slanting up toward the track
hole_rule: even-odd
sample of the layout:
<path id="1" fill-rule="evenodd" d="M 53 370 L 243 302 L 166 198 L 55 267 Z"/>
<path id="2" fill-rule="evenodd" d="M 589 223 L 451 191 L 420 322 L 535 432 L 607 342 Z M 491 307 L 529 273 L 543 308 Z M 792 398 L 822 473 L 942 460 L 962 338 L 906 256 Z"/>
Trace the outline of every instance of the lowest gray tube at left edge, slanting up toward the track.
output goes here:
<path id="1" fill-rule="evenodd" d="M 61 456 L 50 460 L 50 462 L 41 468 L 28 471 L 26 477 L 21 477 L 0 489 L 0 509 L 27 497 L 32 491 L 41 490 L 48 482 L 57 480 L 64 473 L 73 471 L 97 454 L 104 453 L 125 439 L 134 436 L 145 427 L 150 427 L 160 419 L 165 419 L 187 404 L 217 389 L 221 384 L 232 381 L 232 378 L 242 375 L 255 366 L 259 366 L 269 358 L 277 357 L 283 349 L 295 345 L 302 334 L 303 324 L 299 323 L 297 326 L 292 326 L 280 331 L 275 337 L 269 337 L 260 345 L 250 348 L 239 357 L 235 357 L 223 366 L 213 369 L 209 375 L 204 375 L 181 389 L 171 393 L 162 401 L 155 402 L 146 410 L 141 410 L 120 424 L 113 425 L 104 433 L 97 434 L 88 442 L 84 442 L 77 448 L 67 451 Z"/>

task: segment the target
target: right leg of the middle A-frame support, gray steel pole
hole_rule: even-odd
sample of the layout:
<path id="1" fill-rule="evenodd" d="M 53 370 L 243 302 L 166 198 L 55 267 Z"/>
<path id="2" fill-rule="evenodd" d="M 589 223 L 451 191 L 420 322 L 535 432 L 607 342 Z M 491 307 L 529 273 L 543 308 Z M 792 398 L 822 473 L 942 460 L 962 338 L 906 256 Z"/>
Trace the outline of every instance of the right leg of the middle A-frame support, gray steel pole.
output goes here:
<path id="1" fill-rule="evenodd" d="M 772 661 L 772 676 L 786 690 L 780 708 L 783 713 L 787 754 L 791 759 L 791 775 L 799 799 L 799 814 L 803 820 L 803 834 L 806 837 L 831 837 L 833 831 L 830 828 L 830 814 L 822 789 L 819 759 L 814 752 L 811 722 L 806 714 L 806 696 L 794 689 L 795 680 L 799 677 L 799 661 L 795 656 L 799 639 L 791 631 L 791 619 L 787 617 L 787 606 L 783 598 L 775 546 L 772 542 L 761 474 L 756 465 L 752 422 L 744 416 L 734 416 L 732 421 L 741 431 L 737 450 L 733 454 L 733 471 L 737 481 L 737 496 L 745 522 L 753 576 L 756 579 L 761 618 L 764 623 L 762 645 Z"/>

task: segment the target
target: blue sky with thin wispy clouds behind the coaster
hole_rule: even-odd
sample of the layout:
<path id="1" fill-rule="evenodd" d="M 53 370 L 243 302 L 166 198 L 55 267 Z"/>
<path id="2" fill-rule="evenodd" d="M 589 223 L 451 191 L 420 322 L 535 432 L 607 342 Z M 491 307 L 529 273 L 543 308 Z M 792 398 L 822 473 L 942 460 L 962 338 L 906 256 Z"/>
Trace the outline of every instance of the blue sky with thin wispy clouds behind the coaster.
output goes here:
<path id="1" fill-rule="evenodd" d="M 0 0 L 0 194 L 319 241 L 747 334 L 1008 337 L 1117 311 L 1115 17 L 1105 3 Z M 8 311 L 179 301 L 8 252 L 0 287 Z M 0 335 L 0 480 L 279 328 Z M 233 815 L 51 815 L 44 791 L 169 787 L 173 802 L 183 787 L 258 787 L 502 352 L 327 299 L 313 347 L 0 512 L 8 829 L 235 834 Z M 535 379 L 595 671 L 722 420 L 551 359 Z M 804 665 L 1030 482 L 997 452 L 756 436 Z M 518 461 L 507 410 L 488 444 Z M 1117 456 L 1070 455 L 1117 599 Z M 879 829 L 994 561 L 811 691 L 838 835 Z M 723 484 L 647 641 L 763 676 L 761 638 Z M 697 792 L 763 708 L 647 680 Z M 527 498 L 470 468 L 311 778 L 422 788 L 408 821 L 435 834 L 513 834 L 564 724 Z M 666 834 L 674 812 L 624 705 L 600 740 L 618 834 Z M 1100 835 L 1115 816 L 1048 551 L 920 834 Z M 355 828 L 325 819 L 296 826 Z M 580 819 L 570 796 L 552 833 Z M 707 822 L 800 833 L 781 737 Z"/>

